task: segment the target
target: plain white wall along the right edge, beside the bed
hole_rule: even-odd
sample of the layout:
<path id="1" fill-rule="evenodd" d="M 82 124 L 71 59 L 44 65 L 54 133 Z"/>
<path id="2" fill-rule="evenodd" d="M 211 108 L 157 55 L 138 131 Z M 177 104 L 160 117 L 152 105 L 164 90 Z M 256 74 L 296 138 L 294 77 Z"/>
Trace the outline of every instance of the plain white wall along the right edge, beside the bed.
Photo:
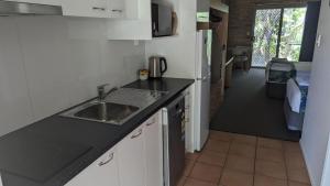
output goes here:
<path id="1" fill-rule="evenodd" d="M 301 147 L 312 186 L 320 186 L 327 143 L 330 131 L 330 9 L 322 0 L 318 33 L 322 35 L 321 47 L 316 47 L 312 62 Z"/>

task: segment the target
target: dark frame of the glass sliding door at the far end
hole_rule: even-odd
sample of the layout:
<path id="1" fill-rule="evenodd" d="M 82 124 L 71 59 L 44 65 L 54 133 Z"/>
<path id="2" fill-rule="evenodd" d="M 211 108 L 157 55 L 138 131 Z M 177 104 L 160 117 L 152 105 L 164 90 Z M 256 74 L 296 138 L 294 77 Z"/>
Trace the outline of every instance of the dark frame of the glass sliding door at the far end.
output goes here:
<path id="1" fill-rule="evenodd" d="M 253 21 L 252 21 L 252 28 L 251 28 L 251 66 L 252 66 L 252 55 L 253 55 L 253 44 L 254 44 L 254 28 L 255 28 L 255 17 L 257 10 L 267 10 L 267 9 L 280 9 L 280 21 L 279 21 L 279 31 L 277 33 L 277 46 L 276 46 L 276 57 L 278 57 L 279 54 L 279 43 L 280 43 L 280 35 L 282 35 L 282 26 L 283 26 L 283 17 L 284 17 L 284 9 L 288 8 L 307 8 L 307 3 L 289 3 L 289 4 L 256 4 L 253 10 Z M 260 66 L 252 66 L 253 68 L 265 68 Z"/>

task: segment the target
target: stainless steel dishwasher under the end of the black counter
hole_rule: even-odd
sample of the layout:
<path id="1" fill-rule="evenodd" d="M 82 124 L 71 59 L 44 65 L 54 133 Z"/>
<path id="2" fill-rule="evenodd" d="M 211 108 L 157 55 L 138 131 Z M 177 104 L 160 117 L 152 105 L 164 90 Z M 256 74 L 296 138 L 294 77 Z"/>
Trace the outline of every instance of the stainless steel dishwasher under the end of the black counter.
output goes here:
<path id="1" fill-rule="evenodd" d="M 185 97 L 163 108 L 164 185 L 175 186 L 185 169 Z"/>

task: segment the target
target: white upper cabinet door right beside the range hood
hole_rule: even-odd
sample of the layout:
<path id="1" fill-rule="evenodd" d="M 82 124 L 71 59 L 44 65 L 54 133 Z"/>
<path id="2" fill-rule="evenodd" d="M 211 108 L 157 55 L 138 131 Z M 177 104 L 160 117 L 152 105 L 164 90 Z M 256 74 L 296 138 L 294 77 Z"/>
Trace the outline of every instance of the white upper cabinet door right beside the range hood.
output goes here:
<path id="1" fill-rule="evenodd" d="M 64 0 L 63 14 L 70 17 L 108 18 L 108 1 Z"/>

